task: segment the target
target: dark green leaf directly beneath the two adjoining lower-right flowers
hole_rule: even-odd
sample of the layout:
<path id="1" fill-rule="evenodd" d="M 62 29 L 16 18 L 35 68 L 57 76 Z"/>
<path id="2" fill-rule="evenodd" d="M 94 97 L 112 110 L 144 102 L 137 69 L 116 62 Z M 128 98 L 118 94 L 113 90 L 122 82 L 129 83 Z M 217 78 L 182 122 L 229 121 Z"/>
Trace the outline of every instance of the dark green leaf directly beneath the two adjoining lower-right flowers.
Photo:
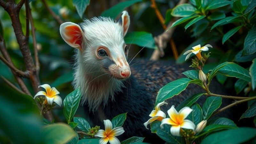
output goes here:
<path id="1" fill-rule="evenodd" d="M 161 139 L 166 141 L 167 143 L 172 144 L 185 144 L 185 140 L 183 137 L 173 136 L 170 132 L 170 125 L 164 124 L 164 128 L 160 127 L 161 122 L 155 121 L 150 124 L 151 132 L 156 133 Z"/>

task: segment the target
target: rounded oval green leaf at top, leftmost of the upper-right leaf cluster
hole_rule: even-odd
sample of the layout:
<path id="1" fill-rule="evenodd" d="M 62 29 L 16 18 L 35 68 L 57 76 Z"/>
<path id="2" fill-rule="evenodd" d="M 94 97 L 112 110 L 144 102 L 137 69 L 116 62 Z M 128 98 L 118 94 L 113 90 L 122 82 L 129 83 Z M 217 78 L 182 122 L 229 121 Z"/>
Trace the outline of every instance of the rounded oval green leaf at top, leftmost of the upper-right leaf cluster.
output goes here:
<path id="1" fill-rule="evenodd" d="M 188 17 L 196 13 L 196 9 L 191 4 L 180 4 L 172 9 L 172 16 L 174 17 Z"/>

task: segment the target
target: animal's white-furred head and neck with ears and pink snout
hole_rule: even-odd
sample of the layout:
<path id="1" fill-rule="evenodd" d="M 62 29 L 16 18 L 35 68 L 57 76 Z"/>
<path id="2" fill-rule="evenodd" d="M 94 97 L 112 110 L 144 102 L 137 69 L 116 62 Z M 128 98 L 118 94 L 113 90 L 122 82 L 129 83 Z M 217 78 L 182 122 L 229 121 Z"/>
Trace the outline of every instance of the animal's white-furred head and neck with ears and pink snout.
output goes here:
<path id="1" fill-rule="evenodd" d="M 118 21 L 99 17 L 84 20 L 79 25 L 65 22 L 60 25 L 64 41 L 76 48 L 75 88 L 80 86 L 82 103 L 94 111 L 120 91 L 123 80 L 131 75 L 127 62 L 128 50 L 124 36 L 130 25 L 128 12 Z"/>

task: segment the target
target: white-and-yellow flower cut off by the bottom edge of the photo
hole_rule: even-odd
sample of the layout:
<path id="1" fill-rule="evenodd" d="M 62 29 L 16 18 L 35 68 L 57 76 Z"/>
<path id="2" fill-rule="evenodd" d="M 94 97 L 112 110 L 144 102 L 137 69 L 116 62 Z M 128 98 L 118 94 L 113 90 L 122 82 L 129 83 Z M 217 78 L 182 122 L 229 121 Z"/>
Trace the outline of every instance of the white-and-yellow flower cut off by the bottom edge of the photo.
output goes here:
<path id="1" fill-rule="evenodd" d="M 124 128 L 119 126 L 114 129 L 112 129 L 112 123 L 110 120 L 104 120 L 105 124 L 105 131 L 104 130 L 99 130 L 97 134 L 95 134 L 96 137 L 100 137 L 101 139 L 99 140 L 99 144 L 120 144 L 120 141 L 115 137 L 119 136 L 122 133 L 124 133 Z"/>

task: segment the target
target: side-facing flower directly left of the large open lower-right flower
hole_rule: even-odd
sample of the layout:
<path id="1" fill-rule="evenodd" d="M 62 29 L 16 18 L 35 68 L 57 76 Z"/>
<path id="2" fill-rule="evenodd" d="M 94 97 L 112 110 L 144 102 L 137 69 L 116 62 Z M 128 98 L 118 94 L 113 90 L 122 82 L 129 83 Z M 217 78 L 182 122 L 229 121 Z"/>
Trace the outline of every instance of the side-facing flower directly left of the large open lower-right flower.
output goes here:
<path id="1" fill-rule="evenodd" d="M 146 129 L 148 129 L 147 125 L 154 122 L 155 120 L 159 120 L 161 121 L 162 119 L 164 119 L 166 117 L 165 113 L 163 111 L 161 111 L 160 106 L 164 105 L 164 104 L 168 104 L 167 102 L 160 102 L 156 105 L 156 109 L 152 110 L 152 112 L 149 114 L 149 116 L 151 117 L 146 123 L 144 123 Z"/>

